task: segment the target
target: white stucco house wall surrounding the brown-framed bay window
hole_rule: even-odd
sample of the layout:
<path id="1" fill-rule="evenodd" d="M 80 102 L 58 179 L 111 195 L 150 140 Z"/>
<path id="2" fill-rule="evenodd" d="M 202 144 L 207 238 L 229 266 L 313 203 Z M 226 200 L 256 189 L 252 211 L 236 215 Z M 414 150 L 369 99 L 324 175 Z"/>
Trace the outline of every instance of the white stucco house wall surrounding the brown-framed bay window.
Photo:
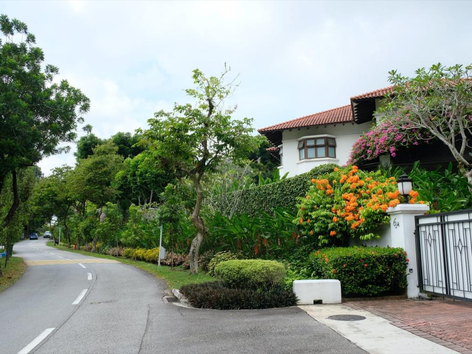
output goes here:
<path id="1" fill-rule="evenodd" d="M 345 123 L 326 125 L 318 127 L 301 128 L 300 130 L 292 129 L 282 132 L 282 146 L 284 152 L 284 164 L 279 167 L 280 176 L 287 172 L 288 177 L 302 174 L 310 171 L 316 166 L 325 163 L 336 163 L 340 166 L 346 164 L 351 153 L 354 142 L 359 136 L 369 130 L 372 122 L 363 124 Z M 319 158 L 299 160 L 298 157 L 298 141 L 300 139 L 329 136 L 336 139 L 336 158 Z"/>

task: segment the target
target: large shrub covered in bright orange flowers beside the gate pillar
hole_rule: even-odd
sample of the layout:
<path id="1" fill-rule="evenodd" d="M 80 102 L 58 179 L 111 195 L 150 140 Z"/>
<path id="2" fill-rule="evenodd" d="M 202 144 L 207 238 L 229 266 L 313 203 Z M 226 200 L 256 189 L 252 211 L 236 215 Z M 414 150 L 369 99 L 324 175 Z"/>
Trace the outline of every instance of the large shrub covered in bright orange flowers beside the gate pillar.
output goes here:
<path id="1" fill-rule="evenodd" d="M 298 199 L 294 223 L 303 235 L 318 237 L 320 244 L 346 241 L 349 236 L 380 238 L 376 231 L 389 222 L 385 211 L 403 199 L 395 177 L 385 177 L 380 171 L 361 171 L 357 166 L 335 168 L 311 183 L 307 195 Z M 410 192 L 409 202 L 421 203 L 417 197 L 418 192 Z"/>

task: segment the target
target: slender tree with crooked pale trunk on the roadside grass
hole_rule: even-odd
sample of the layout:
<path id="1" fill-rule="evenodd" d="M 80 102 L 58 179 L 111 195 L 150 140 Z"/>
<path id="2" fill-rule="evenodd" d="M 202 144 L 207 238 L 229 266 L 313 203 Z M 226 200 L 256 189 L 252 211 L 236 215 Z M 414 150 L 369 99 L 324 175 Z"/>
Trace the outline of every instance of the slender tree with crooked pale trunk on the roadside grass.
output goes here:
<path id="1" fill-rule="evenodd" d="M 196 202 L 190 216 L 197 229 L 189 252 L 192 273 L 198 273 L 198 251 L 207 236 L 200 216 L 205 193 L 202 182 L 217 172 L 222 162 L 246 157 L 254 150 L 252 119 L 232 119 L 236 107 L 224 107 L 225 99 L 237 86 L 235 80 L 225 83 L 229 71 L 225 65 L 219 77 L 206 77 L 194 70 L 196 88 L 185 92 L 197 103 L 176 103 L 172 112 L 157 112 L 154 119 L 149 119 L 150 128 L 144 133 L 161 165 L 177 178 L 191 180 L 195 188 Z"/>

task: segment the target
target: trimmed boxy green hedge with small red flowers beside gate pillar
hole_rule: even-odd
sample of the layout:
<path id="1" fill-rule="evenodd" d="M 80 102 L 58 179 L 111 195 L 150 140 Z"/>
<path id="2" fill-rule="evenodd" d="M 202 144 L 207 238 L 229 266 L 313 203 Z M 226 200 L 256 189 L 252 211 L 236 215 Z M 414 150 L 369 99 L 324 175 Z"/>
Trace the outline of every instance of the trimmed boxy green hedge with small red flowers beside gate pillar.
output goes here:
<path id="1" fill-rule="evenodd" d="M 402 248 L 334 247 L 310 255 L 313 275 L 338 279 L 346 297 L 402 295 L 407 254 Z"/>

